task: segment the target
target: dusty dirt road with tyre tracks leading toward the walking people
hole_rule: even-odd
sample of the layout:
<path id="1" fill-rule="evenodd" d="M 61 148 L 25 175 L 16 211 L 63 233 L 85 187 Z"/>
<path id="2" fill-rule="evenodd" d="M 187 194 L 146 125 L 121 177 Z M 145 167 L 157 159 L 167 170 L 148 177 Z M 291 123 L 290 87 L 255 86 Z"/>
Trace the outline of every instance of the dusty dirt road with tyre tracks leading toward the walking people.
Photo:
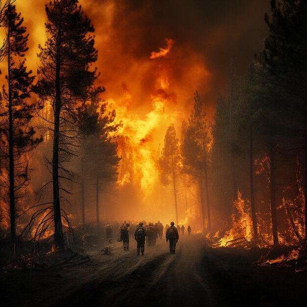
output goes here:
<path id="1" fill-rule="evenodd" d="M 146 249 L 144 257 L 129 252 L 124 263 L 109 267 L 111 276 L 84 285 L 62 306 L 72 302 L 73 297 L 78 297 L 76 303 L 95 306 L 196 306 L 200 301 L 214 306 L 208 285 L 198 272 L 203 246 L 190 237 L 179 240 L 176 255 L 169 254 L 164 241 Z"/>

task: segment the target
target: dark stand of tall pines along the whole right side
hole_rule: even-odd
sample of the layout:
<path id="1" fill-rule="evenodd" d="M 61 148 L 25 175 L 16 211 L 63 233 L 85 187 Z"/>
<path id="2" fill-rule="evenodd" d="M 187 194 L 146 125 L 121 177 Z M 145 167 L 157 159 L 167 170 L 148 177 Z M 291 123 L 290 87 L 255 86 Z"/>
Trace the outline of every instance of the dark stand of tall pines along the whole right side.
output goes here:
<path id="1" fill-rule="evenodd" d="M 229 94 L 218 100 L 213 164 L 220 163 L 221 156 L 232 156 L 245 170 L 249 164 L 249 174 L 235 167 L 237 174 L 222 181 L 222 189 L 228 193 L 236 186 L 245 192 L 251 202 L 255 239 L 258 231 L 263 231 L 257 216 L 263 218 L 260 211 L 269 207 L 272 237 L 278 245 L 279 233 L 287 232 L 285 225 L 290 225 L 299 240 L 306 235 L 307 4 L 272 0 L 271 13 L 271 18 L 265 16 L 269 36 L 247 76 L 235 82 L 237 77 L 231 74 Z M 264 156 L 268 161 L 266 183 L 255 174 L 255 160 Z M 223 176 L 223 172 L 216 176 Z M 263 205 L 265 199 L 268 207 Z M 299 234 L 298 228 L 305 230 Z"/>

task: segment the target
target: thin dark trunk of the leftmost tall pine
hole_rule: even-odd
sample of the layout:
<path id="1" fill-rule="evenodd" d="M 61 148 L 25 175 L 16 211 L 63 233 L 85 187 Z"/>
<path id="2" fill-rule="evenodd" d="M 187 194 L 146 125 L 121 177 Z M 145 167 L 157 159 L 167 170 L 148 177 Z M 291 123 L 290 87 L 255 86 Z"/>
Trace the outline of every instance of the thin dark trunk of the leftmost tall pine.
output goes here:
<path id="1" fill-rule="evenodd" d="M 10 24 L 10 21 L 8 22 Z M 11 240 L 16 240 L 16 208 L 15 208 L 15 181 L 14 181 L 14 140 L 13 140 L 13 110 L 12 110 L 12 88 L 11 88 L 11 45 L 10 26 L 7 31 L 7 56 L 8 56 L 8 113 L 9 113 L 9 195 L 10 195 L 10 225 Z"/>

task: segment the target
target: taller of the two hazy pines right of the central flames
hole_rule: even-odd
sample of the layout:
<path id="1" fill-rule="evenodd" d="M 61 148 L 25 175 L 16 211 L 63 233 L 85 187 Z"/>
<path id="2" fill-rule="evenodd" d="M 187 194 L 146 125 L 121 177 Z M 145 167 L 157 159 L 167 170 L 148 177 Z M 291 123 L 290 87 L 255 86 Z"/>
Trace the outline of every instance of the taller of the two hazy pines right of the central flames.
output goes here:
<path id="1" fill-rule="evenodd" d="M 181 155 L 183 172 L 188 173 L 198 183 L 202 208 L 202 225 L 205 231 L 205 196 L 207 203 L 208 231 L 211 231 L 210 204 L 208 194 L 208 162 L 210 136 L 206 114 L 199 94 L 194 95 L 194 110 L 189 118 L 185 131 L 182 131 Z M 204 193 L 205 191 L 205 193 Z"/>

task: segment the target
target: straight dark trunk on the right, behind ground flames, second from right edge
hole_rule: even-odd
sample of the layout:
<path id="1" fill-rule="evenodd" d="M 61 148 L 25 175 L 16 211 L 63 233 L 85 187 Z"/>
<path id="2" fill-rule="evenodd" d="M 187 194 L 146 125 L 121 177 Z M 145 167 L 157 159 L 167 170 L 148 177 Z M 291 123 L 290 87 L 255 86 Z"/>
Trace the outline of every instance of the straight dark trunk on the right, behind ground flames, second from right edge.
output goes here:
<path id="1" fill-rule="evenodd" d="M 273 244 L 278 246 L 277 232 L 277 214 L 276 214 L 276 195 L 275 195 L 275 149 L 272 146 L 270 149 L 270 201 L 271 201 L 271 218 L 273 231 Z"/>

